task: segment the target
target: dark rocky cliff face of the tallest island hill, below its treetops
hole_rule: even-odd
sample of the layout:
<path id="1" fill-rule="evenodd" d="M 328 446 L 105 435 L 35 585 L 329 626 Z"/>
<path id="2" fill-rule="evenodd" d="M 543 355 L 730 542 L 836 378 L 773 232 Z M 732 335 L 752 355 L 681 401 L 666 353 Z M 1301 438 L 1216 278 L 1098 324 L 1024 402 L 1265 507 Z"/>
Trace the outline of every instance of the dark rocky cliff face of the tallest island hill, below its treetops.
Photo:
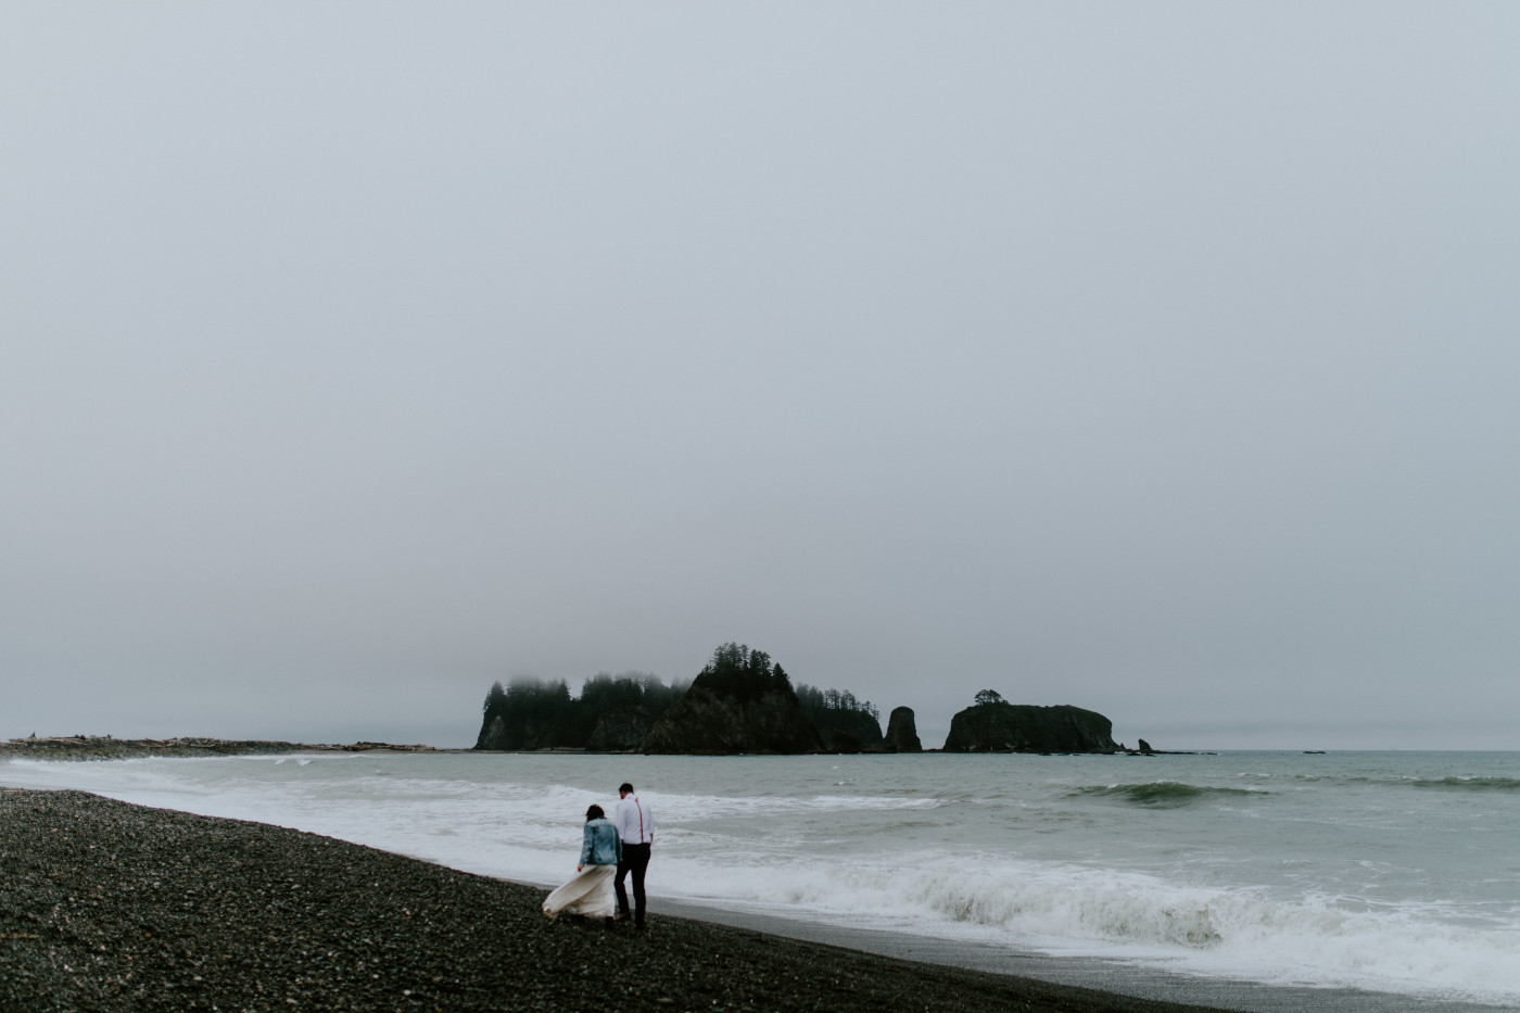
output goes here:
<path id="1" fill-rule="evenodd" d="M 640 747 L 644 753 L 822 753 L 790 684 L 704 672 L 666 710 Z"/>

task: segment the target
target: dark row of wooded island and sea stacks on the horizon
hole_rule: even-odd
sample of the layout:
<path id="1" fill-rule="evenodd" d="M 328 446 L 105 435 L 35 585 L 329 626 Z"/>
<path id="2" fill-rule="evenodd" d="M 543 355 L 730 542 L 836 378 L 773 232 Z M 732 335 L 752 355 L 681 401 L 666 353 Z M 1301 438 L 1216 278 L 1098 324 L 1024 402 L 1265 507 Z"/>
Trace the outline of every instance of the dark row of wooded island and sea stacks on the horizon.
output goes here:
<path id="1" fill-rule="evenodd" d="M 689 683 L 643 672 L 588 678 L 579 697 L 564 680 L 491 686 L 476 750 L 676 754 L 920 753 L 910 707 L 880 710 L 838 689 L 792 686 L 765 651 L 724 643 Z M 1154 754 L 1113 739 L 1096 710 L 1012 704 L 991 689 L 950 721 L 945 753 Z"/>

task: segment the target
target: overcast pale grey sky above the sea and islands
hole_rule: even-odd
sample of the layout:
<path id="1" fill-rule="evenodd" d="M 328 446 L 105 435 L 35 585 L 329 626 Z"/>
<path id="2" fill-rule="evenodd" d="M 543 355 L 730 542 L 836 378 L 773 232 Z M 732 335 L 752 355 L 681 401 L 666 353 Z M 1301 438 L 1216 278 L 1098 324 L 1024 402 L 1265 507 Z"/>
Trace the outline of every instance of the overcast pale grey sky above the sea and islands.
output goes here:
<path id="1" fill-rule="evenodd" d="M 0 12 L 0 736 L 713 648 L 1520 748 L 1520 6 Z"/>

